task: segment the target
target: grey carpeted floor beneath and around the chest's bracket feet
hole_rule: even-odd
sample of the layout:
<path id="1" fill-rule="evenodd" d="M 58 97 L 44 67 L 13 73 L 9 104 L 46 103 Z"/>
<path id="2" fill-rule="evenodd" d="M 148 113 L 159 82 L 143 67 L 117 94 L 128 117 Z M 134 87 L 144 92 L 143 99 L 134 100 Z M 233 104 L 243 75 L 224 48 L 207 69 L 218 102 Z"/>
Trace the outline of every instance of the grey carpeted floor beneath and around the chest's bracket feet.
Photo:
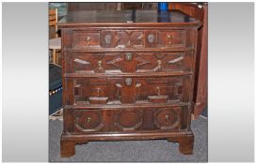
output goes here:
<path id="1" fill-rule="evenodd" d="M 207 119 L 200 117 L 192 121 L 195 135 L 194 155 L 179 153 L 179 143 L 167 140 L 88 142 L 76 145 L 73 157 L 60 158 L 59 137 L 62 122 L 50 121 L 50 162 L 207 162 Z"/>

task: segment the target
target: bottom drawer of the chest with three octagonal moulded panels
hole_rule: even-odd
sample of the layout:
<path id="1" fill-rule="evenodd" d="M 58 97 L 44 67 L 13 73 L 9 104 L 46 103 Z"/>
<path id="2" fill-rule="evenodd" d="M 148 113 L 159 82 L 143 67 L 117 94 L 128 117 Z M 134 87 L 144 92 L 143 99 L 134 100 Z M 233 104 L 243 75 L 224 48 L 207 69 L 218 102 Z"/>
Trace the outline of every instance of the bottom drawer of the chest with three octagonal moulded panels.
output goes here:
<path id="1" fill-rule="evenodd" d="M 64 131 L 70 133 L 178 131 L 189 127 L 189 114 L 188 106 L 98 110 L 65 109 Z"/>

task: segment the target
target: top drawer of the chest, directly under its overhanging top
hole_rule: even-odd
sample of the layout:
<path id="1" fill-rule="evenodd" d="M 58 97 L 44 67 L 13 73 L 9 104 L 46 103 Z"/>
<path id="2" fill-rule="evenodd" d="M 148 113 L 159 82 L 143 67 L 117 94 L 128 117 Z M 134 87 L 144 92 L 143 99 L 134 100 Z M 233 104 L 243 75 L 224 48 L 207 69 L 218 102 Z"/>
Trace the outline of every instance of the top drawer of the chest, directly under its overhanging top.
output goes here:
<path id="1" fill-rule="evenodd" d="M 193 30 L 72 30 L 65 29 L 63 50 L 193 49 Z"/>

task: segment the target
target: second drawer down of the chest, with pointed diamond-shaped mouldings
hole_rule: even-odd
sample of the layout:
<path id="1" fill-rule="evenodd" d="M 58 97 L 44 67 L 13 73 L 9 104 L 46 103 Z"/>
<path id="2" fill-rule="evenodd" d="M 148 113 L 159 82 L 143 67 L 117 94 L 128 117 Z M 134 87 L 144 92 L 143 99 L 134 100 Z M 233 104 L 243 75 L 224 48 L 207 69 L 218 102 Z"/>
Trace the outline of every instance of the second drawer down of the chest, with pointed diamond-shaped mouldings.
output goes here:
<path id="1" fill-rule="evenodd" d="M 193 52 L 64 52 L 67 73 L 192 71 Z"/>

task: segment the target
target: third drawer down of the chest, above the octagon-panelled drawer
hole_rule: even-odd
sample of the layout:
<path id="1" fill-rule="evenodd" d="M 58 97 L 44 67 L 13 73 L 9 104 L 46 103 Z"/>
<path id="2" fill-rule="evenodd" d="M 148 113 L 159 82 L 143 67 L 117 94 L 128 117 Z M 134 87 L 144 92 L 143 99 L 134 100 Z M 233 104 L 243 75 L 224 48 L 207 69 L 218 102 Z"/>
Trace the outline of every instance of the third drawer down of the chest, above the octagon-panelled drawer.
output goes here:
<path id="1" fill-rule="evenodd" d="M 192 76 L 67 79 L 66 103 L 173 103 L 190 100 Z"/>

